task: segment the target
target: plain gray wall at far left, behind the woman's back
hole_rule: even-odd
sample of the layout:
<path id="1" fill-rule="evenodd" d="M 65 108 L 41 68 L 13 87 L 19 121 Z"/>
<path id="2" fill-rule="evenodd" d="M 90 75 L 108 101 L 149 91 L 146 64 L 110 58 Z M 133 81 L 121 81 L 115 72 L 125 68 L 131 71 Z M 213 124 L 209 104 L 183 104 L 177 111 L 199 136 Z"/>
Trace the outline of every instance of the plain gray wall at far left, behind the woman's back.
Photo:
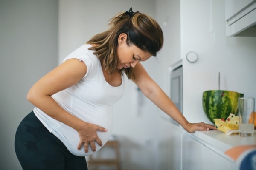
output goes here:
<path id="1" fill-rule="evenodd" d="M 0 169 L 19 170 L 17 126 L 29 88 L 58 64 L 58 0 L 0 0 Z"/>

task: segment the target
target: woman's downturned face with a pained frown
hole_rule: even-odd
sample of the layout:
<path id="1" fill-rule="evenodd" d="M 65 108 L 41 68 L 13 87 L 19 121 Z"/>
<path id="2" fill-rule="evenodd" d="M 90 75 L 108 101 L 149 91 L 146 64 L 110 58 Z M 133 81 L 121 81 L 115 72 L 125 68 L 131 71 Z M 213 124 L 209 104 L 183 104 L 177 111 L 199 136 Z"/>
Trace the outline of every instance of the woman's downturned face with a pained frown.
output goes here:
<path id="1" fill-rule="evenodd" d="M 126 34 L 125 34 L 126 35 Z M 122 36 L 122 34 L 120 35 Z M 120 38 L 119 36 L 119 38 Z M 149 52 L 145 52 L 135 45 L 128 45 L 125 36 L 121 37 L 117 46 L 118 69 L 132 67 L 134 68 L 137 62 L 145 61 L 151 57 Z"/>

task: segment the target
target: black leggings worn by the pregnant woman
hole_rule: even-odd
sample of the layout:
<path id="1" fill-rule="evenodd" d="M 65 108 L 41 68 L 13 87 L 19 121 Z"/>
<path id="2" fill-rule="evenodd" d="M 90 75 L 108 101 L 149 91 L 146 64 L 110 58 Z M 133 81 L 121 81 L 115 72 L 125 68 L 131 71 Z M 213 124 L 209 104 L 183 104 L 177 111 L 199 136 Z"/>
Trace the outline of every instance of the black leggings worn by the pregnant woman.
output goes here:
<path id="1" fill-rule="evenodd" d="M 85 157 L 70 153 L 33 111 L 17 128 L 15 152 L 23 170 L 87 170 Z"/>

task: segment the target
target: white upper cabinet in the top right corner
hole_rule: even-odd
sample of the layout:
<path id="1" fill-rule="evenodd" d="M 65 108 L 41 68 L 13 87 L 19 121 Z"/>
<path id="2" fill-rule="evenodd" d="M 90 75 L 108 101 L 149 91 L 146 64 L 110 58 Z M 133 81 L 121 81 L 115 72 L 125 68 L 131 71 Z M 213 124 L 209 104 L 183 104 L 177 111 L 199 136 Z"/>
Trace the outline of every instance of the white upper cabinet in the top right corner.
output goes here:
<path id="1" fill-rule="evenodd" d="M 256 0 L 225 0 L 227 36 L 256 37 Z"/>

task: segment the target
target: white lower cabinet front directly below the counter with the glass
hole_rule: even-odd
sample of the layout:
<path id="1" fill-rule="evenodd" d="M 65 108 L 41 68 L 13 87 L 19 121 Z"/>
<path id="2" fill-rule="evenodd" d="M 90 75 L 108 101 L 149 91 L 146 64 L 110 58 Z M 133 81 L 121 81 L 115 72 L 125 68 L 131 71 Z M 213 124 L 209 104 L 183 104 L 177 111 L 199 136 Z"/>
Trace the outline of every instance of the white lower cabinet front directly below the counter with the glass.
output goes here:
<path id="1" fill-rule="evenodd" d="M 181 170 L 230 170 L 232 163 L 201 143 L 182 134 Z"/>

